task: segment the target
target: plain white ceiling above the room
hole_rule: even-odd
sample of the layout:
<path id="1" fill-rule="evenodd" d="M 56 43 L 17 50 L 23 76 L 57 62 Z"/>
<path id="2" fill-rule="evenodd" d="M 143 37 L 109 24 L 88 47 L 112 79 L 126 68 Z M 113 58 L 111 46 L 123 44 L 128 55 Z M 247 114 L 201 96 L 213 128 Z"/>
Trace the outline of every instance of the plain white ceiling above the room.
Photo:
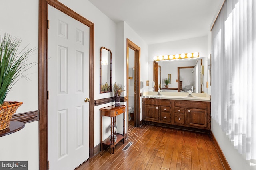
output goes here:
<path id="1" fill-rule="evenodd" d="M 147 44 L 208 35 L 223 0 L 89 0 L 115 23 L 125 21 Z"/>

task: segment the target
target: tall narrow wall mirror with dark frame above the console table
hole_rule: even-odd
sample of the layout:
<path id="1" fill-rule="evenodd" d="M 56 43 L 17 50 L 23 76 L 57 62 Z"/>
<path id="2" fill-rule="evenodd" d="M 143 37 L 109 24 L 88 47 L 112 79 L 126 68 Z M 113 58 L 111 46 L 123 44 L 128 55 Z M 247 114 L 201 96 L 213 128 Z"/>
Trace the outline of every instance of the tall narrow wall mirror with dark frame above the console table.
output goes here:
<path id="1" fill-rule="evenodd" d="M 112 92 L 112 52 L 100 48 L 100 93 Z"/>

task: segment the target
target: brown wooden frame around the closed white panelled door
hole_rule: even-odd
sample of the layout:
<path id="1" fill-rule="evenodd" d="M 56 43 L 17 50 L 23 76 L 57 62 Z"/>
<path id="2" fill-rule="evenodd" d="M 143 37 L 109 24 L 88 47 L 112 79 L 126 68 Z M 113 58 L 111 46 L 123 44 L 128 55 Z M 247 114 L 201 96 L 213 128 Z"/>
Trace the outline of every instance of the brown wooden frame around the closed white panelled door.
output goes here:
<path id="1" fill-rule="evenodd" d="M 38 32 L 38 97 L 39 97 L 39 169 L 48 169 L 47 74 L 48 74 L 48 5 L 90 27 L 90 102 L 89 104 L 89 156 L 94 156 L 94 23 L 86 20 L 57 0 L 39 0 Z"/>

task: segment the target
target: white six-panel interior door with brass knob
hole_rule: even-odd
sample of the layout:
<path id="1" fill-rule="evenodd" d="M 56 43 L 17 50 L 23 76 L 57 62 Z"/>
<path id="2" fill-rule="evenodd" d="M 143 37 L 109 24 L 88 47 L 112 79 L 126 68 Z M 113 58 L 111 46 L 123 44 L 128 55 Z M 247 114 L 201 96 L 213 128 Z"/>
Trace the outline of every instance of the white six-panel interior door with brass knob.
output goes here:
<path id="1" fill-rule="evenodd" d="M 89 27 L 48 6 L 48 160 L 73 170 L 89 158 Z"/>

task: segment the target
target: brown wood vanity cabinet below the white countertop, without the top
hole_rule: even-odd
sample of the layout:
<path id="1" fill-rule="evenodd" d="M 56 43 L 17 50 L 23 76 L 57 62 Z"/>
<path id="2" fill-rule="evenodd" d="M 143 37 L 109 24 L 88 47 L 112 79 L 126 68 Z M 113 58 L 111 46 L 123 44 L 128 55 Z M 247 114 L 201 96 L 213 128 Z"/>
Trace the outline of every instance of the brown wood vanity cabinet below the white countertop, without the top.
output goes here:
<path id="1" fill-rule="evenodd" d="M 210 102 L 156 98 L 143 98 L 142 102 L 143 121 L 146 123 L 204 130 L 211 128 Z"/>

